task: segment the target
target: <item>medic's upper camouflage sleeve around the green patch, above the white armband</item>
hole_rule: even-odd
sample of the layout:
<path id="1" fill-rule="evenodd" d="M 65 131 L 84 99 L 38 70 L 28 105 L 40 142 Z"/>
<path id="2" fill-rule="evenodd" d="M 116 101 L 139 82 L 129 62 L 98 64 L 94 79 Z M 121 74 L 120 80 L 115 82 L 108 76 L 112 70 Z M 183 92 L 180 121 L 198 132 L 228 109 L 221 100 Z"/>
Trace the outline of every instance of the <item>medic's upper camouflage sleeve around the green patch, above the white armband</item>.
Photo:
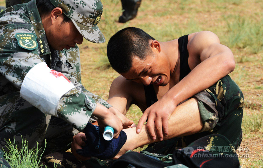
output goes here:
<path id="1" fill-rule="evenodd" d="M 32 32 L 27 29 L 11 29 L 0 36 L 0 73 L 20 90 L 28 71 L 43 60 L 37 49 L 30 51 L 21 48 L 14 37 L 16 33 Z"/>

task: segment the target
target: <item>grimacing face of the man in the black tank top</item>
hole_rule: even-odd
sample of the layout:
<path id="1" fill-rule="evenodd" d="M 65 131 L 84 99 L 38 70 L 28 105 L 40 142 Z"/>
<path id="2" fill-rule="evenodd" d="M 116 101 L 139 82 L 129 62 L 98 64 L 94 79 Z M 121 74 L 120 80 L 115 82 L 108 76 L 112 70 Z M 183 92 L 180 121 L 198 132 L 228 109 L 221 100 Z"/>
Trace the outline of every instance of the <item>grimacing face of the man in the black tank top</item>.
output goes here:
<path id="1" fill-rule="evenodd" d="M 133 56 L 131 69 L 121 75 L 127 80 L 146 86 L 150 84 L 165 86 L 170 80 L 168 60 L 160 54 L 146 56 L 143 60 Z"/>

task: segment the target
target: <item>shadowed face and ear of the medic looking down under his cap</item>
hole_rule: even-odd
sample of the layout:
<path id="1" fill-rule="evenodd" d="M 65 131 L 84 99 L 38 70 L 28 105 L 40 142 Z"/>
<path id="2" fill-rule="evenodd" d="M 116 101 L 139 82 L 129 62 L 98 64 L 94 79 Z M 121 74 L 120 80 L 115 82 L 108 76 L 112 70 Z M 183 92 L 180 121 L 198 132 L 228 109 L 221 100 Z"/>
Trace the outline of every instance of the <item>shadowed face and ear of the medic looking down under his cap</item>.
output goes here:
<path id="1" fill-rule="evenodd" d="M 49 45 L 55 50 L 70 49 L 82 44 L 83 36 L 79 33 L 73 22 L 63 22 L 61 8 L 51 12 L 51 24 L 45 29 Z"/>

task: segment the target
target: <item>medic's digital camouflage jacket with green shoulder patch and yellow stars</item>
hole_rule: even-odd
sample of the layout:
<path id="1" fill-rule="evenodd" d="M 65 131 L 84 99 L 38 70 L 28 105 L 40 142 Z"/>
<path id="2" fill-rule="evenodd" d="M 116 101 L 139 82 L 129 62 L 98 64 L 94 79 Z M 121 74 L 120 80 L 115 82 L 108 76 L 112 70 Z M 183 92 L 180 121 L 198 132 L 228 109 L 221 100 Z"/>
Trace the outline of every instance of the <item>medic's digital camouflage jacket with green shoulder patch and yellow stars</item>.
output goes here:
<path id="1" fill-rule="evenodd" d="M 82 131 L 91 120 L 96 102 L 111 107 L 81 85 L 77 46 L 62 51 L 49 48 L 35 0 L 0 13 L 0 40 L 0 99 L 2 95 L 20 91 L 30 69 L 46 62 L 50 69 L 63 73 L 75 85 L 60 98 L 55 116 Z M 21 40 L 25 43 L 20 43 Z M 28 44 L 27 40 L 33 43 Z"/>

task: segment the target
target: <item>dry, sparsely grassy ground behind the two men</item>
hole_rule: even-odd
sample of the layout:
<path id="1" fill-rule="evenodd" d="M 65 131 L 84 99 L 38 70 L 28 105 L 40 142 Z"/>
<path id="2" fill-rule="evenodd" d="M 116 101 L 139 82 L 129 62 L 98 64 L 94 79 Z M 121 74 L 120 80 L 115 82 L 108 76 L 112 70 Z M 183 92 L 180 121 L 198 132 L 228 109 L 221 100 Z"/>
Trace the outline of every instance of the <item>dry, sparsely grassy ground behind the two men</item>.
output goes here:
<path id="1" fill-rule="evenodd" d="M 260 0 L 143 0 L 138 16 L 127 23 L 118 23 L 120 0 L 101 0 L 103 15 L 98 24 L 106 43 L 84 41 L 79 46 L 82 83 L 88 90 L 108 98 L 111 82 L 119 76 L 109 67 L 106 45 L 109 38 L 125 27 L 142 28 L 160 41 L 173 40 L 192 32 L 210 30 L 228 46 L 236 59 L 230 76 L 240 86 L 245 98 L 243 141 L 239 154 L 242 167 L 263 166 L 263 1 Z M 4 1 L 0 1 L 4 5 Z M 128 117 L 135 122 L 141 111 L 133 106 Z M 241 149 L 241 148 L 240 148 Z"/>

